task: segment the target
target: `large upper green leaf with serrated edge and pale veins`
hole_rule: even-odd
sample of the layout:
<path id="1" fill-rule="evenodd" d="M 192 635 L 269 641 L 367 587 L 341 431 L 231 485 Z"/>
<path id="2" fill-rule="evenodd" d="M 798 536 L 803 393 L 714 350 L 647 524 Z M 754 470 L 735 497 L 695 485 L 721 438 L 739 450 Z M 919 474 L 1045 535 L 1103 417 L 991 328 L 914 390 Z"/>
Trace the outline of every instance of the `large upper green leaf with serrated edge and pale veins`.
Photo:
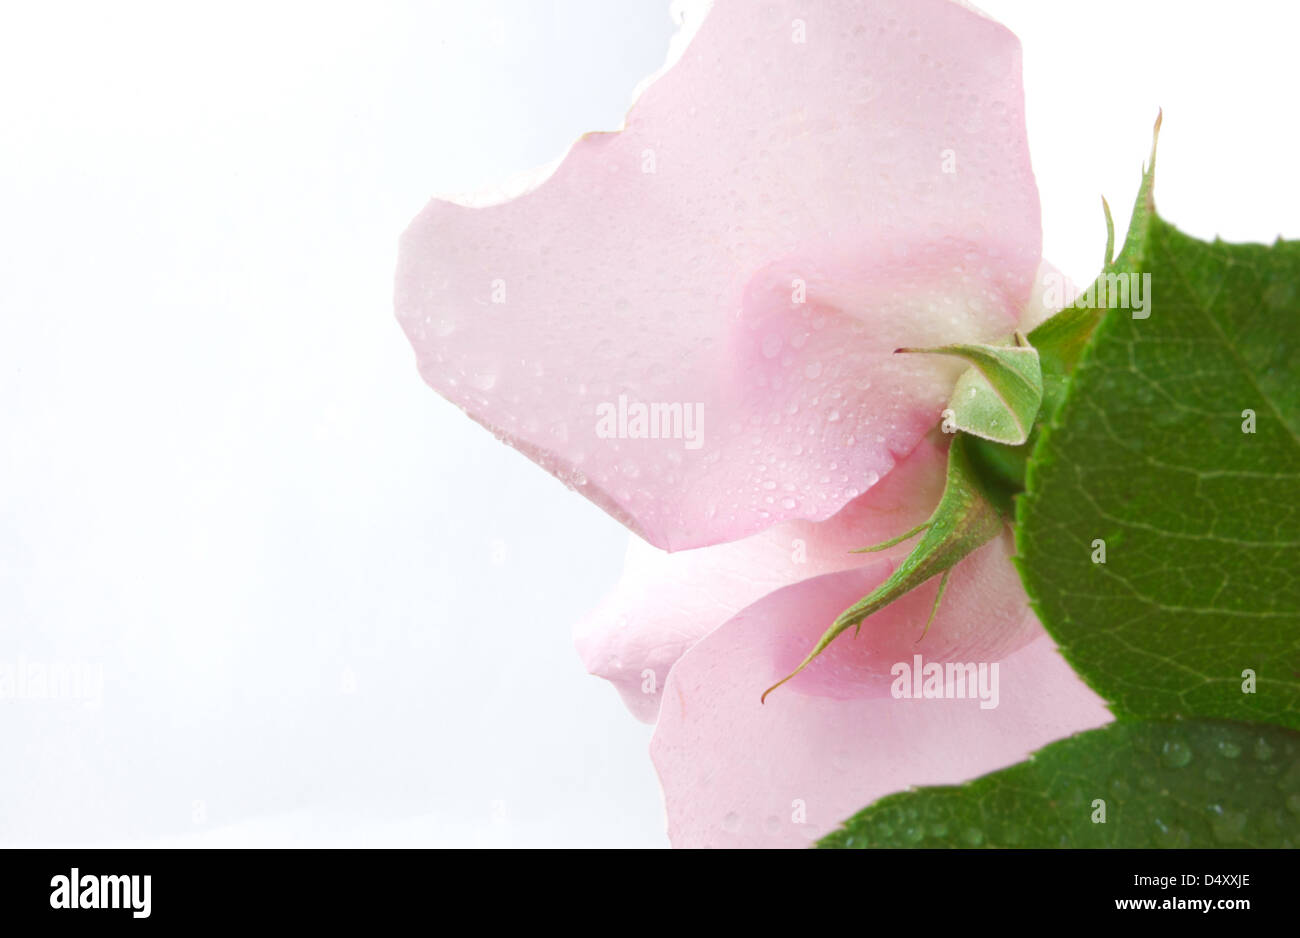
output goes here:
<path id="1" fill-rule="evenodd" d="M 1145 295 L 1105 313 L 1018 500 L 1026 589 L 1118 716 L 1300 728 L 1300 243 L 1135 218 L 1104 278 Z"/>

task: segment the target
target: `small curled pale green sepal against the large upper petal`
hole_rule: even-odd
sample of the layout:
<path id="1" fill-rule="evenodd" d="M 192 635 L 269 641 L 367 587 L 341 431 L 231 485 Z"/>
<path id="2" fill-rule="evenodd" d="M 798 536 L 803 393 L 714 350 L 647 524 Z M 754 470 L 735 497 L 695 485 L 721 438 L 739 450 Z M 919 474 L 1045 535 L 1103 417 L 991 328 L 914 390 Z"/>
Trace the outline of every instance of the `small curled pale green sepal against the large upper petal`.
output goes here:
<path id="1" fill-rule="evenodd" d="M 898 352 L 950 355 L 971 364 L 953 388 L 944 430 L 961 430 L 994 443 L 1019 446 L 1030 438 L 1043 404 L 1039 353 L 1017 333 L 1013 346 L 941 346 Z"/>

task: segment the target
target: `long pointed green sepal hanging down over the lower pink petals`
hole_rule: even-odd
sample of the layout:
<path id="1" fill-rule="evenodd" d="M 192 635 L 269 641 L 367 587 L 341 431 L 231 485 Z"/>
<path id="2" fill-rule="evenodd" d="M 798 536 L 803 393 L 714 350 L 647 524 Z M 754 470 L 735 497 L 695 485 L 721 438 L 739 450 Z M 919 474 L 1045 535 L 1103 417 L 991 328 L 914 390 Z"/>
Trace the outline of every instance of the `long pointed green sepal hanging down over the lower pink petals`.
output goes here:
<path id="1" fill-rule="evenodd" d="M 932 577 L 944 574 L 946 583 L 948 572 L 967 553 L 987 544 L 996 538 L 1006 525 L 1006 520 L 993 501 L 980 487 L 974 477 L 967 442 L 970 437 L 958 434 L 948 447 L 948 477 L 944 485 L 944 494 L 939 499 L 939 505 L 930 516 L 930 520 L 910 531 L 892 538 L 883 544 L 863 547 L 859 552 L 879 551 L 892 547 L 916 534 L 920 540 L 911 553 L 898 565 L 893 574 L 871 591 L 870 595 L 853 604 L 840 613 L 829 629 L 823 633 L 812 651 L 800 663 L 800 666 L 763 691 L 762 699 L 807 668 L 812 659 L 826 651 L 845 629 L 862 627 L 862 621 L 874 612 L 885 608 L 892 602 L 906 592 L 915 590 Z M 939 596 L 935 599 L 935 609 L 944 595 L 944 583 L 940 583 Z M 931 620 L 935 613 L 931 611 Z M 930 622 L 926 624 L 926 629 Z M 924 633 L 920 633 L 922 635 Z M 919 635 L 918 635 L 919 638 Z"/>

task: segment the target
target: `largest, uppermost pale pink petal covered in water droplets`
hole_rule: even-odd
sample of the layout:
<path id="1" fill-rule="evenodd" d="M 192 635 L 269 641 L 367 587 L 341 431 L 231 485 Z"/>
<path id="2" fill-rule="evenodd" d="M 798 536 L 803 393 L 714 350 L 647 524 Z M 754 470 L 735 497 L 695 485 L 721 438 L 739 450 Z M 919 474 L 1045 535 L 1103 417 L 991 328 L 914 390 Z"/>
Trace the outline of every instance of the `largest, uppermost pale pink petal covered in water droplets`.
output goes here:
<path id="1" fill-rule="evenodd" d="M 1008 334 L 1039 249 L 1004 27 L 949 0 L 718 0 L 621 133 L 512 201 L 432 203 L 396 311 L 436 390 L 676 550 L 870 488 L 954 374 L 890 352 Z M 620 398 L 698 407 L 698 447 L 599 434 Z"/>

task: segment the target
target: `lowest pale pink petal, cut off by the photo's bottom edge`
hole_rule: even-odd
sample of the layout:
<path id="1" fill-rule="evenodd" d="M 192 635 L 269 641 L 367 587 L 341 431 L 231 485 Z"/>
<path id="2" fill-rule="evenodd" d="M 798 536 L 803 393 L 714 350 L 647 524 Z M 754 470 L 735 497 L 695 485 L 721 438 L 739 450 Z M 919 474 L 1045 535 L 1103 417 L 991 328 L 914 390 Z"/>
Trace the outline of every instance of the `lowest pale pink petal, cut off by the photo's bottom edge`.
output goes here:
<path id="1" fill-rule="evenodd" d="M 854 666 L 875 673 L 890 656 L 939 660 L 930 647 L 933 629 L 910 648 L 897 640 L 911 633 L 920 612 L 909 599 L 868 620 L 859 638 L 837 639 L 831 651 L 838 660 L 814 663 L 811 673 L 760 704 L 763 689 L 784 672 L 783 650 L 797 644 L 792 635 L 811 635 L 875 578 L 863 568 L 771 594 L 697 643 L 672 669 L 651 756 L 675 846 L 807 846 L 883 795 L 962 782 L 1110 720 L 1036 622 L 1040 637 L 998 661 L 996 708 L 983 709 L 978 699 L 800 692 L 810 683 L 827 692 L 837 681 L 857 692 Z M 949 616 L 966 629 L 1008 627 L 998 615 L 998 595 L 954 576 L 940 618 Z M 982 652 L 982 634 L 967 631 L 968 642 L 950 650 L 957 652 L 953 660 L 996 660 Z M 887 652 L 874 647 L 881 635 L 892 635 L 884 639 Z"/>

